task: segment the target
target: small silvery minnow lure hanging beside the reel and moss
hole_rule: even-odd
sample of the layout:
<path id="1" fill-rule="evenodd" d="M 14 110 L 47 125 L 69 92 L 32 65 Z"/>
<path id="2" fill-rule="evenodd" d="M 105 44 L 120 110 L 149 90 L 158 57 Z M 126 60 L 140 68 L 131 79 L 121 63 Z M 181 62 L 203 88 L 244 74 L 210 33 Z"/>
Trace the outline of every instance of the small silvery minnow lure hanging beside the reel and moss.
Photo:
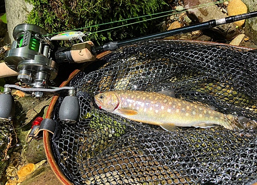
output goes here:
<path id="1" fill-rule="evenodd" d="M 64 32 L 64 33 L 60 33 L 60 34 L 58 34 L 56 36 L 53 36 L 51 38 L 51 40 L 52 41 L 64 41 L 64 40 L 71 41 L 71 40 L 79 39 L 82 42 L 84 42 L 82 37 L 86 36 L 88 34 L 89 33 L 83 33 L 81 31 L 67 31 L 67 32 Z"/>

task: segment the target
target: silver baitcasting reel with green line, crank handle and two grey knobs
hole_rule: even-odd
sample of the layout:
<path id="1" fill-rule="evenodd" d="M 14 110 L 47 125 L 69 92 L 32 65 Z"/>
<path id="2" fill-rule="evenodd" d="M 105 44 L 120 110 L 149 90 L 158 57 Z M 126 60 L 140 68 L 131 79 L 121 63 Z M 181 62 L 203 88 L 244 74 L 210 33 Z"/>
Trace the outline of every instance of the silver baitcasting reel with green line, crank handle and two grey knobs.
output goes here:
<path id="1" fill-rule="evenodd" d="M 60 120 L 65 123 L 75 123 L 79 117 L 79 102 L 75 87 L 50 87 L 48 82 L 56 78 L 58 64 L 51 58 L 53 45 L 45 29 L 32 25 L 20 24 L 13 30 L 11 49 L 7 51 L 5 63 L 11 69 L 19 72 L 17 77 L 21 82 L 32 86 L 22 88 L 16 85 L 5 85 L 4 93 L 0 95 L 0 121 L 9 121 L 14 115 L 14 99 L 11 88 L 18 89 L 36 98 L 44 94 L 57 94 L 68 90 L 60 108 Z"/>

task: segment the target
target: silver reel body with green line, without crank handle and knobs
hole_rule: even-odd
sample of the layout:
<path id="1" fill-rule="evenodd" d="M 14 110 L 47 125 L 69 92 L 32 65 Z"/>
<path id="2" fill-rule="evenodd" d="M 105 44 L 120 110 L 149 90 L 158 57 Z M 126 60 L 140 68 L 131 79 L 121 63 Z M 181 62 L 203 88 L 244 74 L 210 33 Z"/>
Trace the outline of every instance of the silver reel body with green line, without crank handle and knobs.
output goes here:
<path id="1" fill-rule="evenodd" d="M 56 78 L 58 64 L 51 60 L 53 46 L 45 29 L 32 25 L 20 24 L 13 30 L 15 41 L 6 53 L 5 63 L 19 72 L 18 80 L 34 88 L 48 88 L 49 80 Z M 42 97 L 40 93 L 36 97 Z"/>

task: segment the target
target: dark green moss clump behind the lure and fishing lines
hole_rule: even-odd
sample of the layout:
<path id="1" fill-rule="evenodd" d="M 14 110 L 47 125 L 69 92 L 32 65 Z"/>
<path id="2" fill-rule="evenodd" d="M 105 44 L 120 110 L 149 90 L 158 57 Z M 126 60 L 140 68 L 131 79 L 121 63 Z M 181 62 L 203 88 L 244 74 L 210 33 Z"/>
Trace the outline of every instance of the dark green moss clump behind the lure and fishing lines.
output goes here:
<path id="1" fill-rule="evenodd" d="M 124 20 L 126 18 L 162 12 L 167 5 L 165 0 L 26 0 L 34 5 L 34 9 L 28 16 L 27 23 L 39 25 L 49 33 L 68 31 L 71 29 L 94 26 L 102 23 Z M 167 1 L 167 0 L 166 0 Z M 116 26 L 146 20 L 150 17 L 123 21 L 108 25 L 96 26 L 83 32 L 95 32 Z M 120 41 L 130 39 L 134 36 L 149 34 L 153 31 L 154 25 L 159 20 L 142 22 L 117 29 L 91 34 L 86 40 L 96 41 L 103 44 L 108 41 Z M 149 29 L 150 28 L 150 29 Z"/>

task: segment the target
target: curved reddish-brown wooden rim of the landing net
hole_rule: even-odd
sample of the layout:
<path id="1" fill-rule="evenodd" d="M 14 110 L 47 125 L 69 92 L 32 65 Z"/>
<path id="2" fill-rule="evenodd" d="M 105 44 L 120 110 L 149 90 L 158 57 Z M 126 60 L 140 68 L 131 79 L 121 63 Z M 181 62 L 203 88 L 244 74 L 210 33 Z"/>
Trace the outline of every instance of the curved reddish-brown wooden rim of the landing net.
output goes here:
<path id="1" fill-rule="evenodd" d="M 111 53 L 111 51 L 106 51 L 106 52 L 100 53 L 100 54 L 97 55 L 97 59 L 101 59 L 101 58 L 103 58 L 105 55 L 107 55 L 109 53 Z M 80 67 L 80 69 L 74 70 L 70 74 L 69 78 L 60 85 L 60 87 L 68 85 L 68 83 L 80 71 L 82 71 L 85 67 L 87 67 L 91 63 L 93 63 L 93 62 L 87 62 L 84 65 L 82 65 Z M 52 101 L 51 101 L 51 103 L 50 103 L 50 105 L 49 105 L 49 107 L 47 109 L 46 118 L 51 119 L 53 108 L 54 108 L 54 105 L 56 104 L 58 98 L 59 98 L 59 95 L 53 96 L 53 99 L 52 99 Z M 64 184 L 64 185 L 74 185 L 74 183 L 70 182 L 69 179 L 67 179 L 65 177 L 65 175 L 63 174 L 61 169 L 58 167 L 56 160 L 54 159 L 54 156 L 53 156 L 53 153 L 52 153 L 52 147 L 51 147 L 51 138 L 52 138 L 52 136 L 50 135 L 49 132 L 43 131 L 43 143 L 44 143 L 44 149 L 45 149 L 45 154 L 46 154 L 47 161 L 49 162 L 50 167 L 51 167 L 53 173 L 56 175 L 56 177 L 58 178 L 58 180 L 62 184 Z"/>

